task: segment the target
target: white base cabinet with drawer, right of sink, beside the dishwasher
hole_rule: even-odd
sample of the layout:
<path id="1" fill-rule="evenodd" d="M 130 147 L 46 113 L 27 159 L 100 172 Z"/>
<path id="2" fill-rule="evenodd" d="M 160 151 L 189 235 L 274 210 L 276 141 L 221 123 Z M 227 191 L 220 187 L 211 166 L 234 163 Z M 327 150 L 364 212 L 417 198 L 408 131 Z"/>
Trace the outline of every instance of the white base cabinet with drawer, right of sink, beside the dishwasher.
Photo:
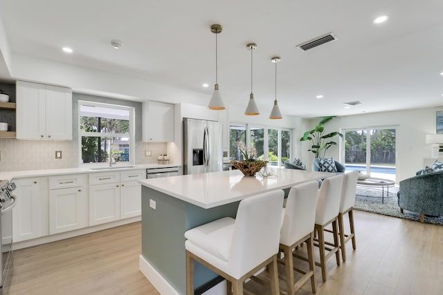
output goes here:
<path id="1" fill-rule="evenodd" d="M 120 219 L 141 215 L 141 184 L 146 170 L 120 172 Z"/>

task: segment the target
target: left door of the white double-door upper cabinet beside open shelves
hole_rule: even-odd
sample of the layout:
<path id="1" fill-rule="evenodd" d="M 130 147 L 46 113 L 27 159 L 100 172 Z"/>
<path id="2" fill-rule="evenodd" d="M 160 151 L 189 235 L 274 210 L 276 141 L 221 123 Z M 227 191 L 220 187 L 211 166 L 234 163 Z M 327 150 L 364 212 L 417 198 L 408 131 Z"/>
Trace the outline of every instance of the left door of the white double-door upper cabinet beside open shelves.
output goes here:
<path id="1" fill-rule="evenodd" d="M 45 86 L 17 81 L 17 139 L 46 137 Z"/>

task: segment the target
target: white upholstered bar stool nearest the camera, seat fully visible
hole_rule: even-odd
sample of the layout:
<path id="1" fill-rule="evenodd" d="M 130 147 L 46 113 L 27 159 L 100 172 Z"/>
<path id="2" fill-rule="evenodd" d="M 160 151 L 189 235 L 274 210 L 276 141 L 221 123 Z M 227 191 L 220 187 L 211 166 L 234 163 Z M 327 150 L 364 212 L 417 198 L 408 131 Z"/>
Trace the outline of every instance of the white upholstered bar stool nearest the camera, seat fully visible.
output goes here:
<path id="1" fill-rule="evenodd" d="M 221 218 L 186 231 L 187 294 L 194 294 L 198 261 L 226 278 L 228 294 L 243 294 L 243 283 L 263 267 L 271 276 L 271 294 L 278 294 L 277 254 L 283 211 L 282 190 L 242 200 L 237 216 Z"/>

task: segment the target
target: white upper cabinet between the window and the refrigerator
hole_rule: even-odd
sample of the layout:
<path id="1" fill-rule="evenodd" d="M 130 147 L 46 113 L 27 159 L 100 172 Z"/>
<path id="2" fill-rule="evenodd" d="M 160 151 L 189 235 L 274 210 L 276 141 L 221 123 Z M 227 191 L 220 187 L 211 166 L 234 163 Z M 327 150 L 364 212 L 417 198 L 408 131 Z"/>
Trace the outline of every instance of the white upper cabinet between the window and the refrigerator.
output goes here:
<path id="1" fill-rule="evenodd" d="M 143 102 L 143 142 L 174 141 L 174 104 Z"/>

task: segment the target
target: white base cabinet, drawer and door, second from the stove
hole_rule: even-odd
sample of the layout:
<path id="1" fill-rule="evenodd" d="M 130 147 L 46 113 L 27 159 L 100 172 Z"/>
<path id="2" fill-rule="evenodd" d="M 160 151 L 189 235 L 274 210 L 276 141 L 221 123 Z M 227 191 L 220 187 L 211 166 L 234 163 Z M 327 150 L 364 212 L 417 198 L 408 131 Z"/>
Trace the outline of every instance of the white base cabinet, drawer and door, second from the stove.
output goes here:
<path id="1" fill-rule="evenodd" d="M 87 175 L 49 178 L 49 234 L 87 227 L 87 196 Z"/>

